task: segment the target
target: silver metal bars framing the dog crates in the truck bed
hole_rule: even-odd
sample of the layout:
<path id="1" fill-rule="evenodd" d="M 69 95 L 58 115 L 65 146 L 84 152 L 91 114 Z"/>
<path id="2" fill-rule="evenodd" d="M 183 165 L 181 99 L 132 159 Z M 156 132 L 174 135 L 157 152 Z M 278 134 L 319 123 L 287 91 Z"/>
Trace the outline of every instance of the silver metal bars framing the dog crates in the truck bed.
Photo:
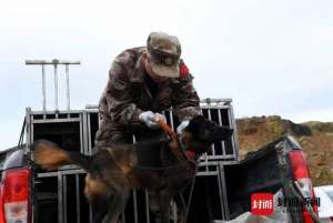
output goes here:
<path id="1" fill-rule="evenodd" d="M 211 103 L 203 102 L 202 110 L 206 110 L 209 118 L 212 118 L 212 110 L 218 110 L 218 120 L 219 124 L 222 123 L 222 110 L 226 110 L 228 113 L 228 121 L 230 125 L 234 129 L 234 135 L 231 140 L 232 143 L 232 151 L 233 154 L 226 154 L 225 152 L 225 143 L 222 142 L 222 151 L 218 154 L 215 148 L 213 146 L 213 152 L 211 155 L 204 154 L 200 159 L 200 166 L 196 178 L 205 178 L 205 176 L 216 176 L 218 178 L 218 187 L 219 191 L 216 193 L 220 197 L 220 205 L 221 205 L 221 219 L 228 220 L 229 219 L 229 206 L 228 206 L 228 197 L 226 197 L 226 187 L 225 187 L 225 179 L 224 179 L 224 165 L 236 164 L 239 163 L 239 144 L 236 139 L 236 126 L 233 116 L 233 108 L 231 105 L 231 100 L 211 100 Z M 212 104 L 214 102 L 214 104 Z M 225 111 L 224 111 L 225 112 Z M 165 115 L 169 115 L 169 120 L 172 128 L 174 128 L 174 115 L 172 110 L 164 112 Z M 88 107 L 85 110 L 69 110 L 69 111 L 31 111 L 30 108 L 26 110 L 26 140 L 27 140 L 27 152 L 30 152 L 30 145 L 33 142 L 34 135 L 34 125 L 36 124 L 47 124 L 47 123 L 63 123 L 63 122 L 78 122 L 80 125 L 80 152 L 83 154 L 91 155 L 93 153 L 92 149 L 92 123 L 91 119 L 93 115 L 98 115 L 98 110 L 95 107 Z M 174 128 L 175 129 L 175 128 Z M 31 159 L 33 160 L 33 152 L 30 153 Z M 43 178 L 57 178 L 58 180 L 58 209 L 59 209 L 59 223 L 68 223 L 68 213 L 67 213 L 67 197 L 65 194 L 69 190 L 67 186 L 67 176 L 74 175 L 75 178 L 75 214 L 77 214 L 77 222 L 80 222 L 81 217 L 81 209 L 80 209 L 80 190 L 83 190 L 79 182 L 80 174 L 84 174 L 85 172 L 81 169 L 78 169 L 75 165 L 67 165 L 59 169 L 56 172 L 44 172 L 38 173 L 37 179 Z M 36 179 L 36 180 L 37 180 Z M 36 181 L 34 180 L 34 181 Z M 138 199 L 137 191 L 133 191 L 133 203 L 132 207 L 134 210 L 133 217 L 134 223 L 139 222 L 139 213 L 138 213 Z M 141 201 L 143 202 L 143 201 Z M 148 201 L 148 193 L 144 192 L 144 214 L 147 219 L 147 223 L 150 223 L 149 216 L 149 201 Z M 91 213 L 91 211 L 90 211 Z M 90 214 L 91 220 L 91 214 Z M 125 215 L 122 214 L 123 223 L 125 222 Z"/>

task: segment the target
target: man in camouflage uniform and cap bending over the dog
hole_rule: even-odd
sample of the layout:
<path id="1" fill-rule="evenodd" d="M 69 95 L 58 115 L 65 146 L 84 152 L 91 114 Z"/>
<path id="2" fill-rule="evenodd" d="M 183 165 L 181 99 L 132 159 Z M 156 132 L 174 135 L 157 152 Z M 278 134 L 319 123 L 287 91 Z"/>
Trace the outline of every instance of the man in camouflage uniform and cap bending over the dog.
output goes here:
<path id="1" fill-rule="evenodd" d="M 178 131 L 200 114 L 193 77 L 180 57 L 176 37 L 152 32 L 147 47 L 128 49 L 114 59 L 99 103 L 97 145 L 132 143 L 133 134 L 139 141 L 161 138 L 154 118 L 165 109 L 172 108 L 179 118 Z M 140 124 L 148 128 L 138 129 Z"/>

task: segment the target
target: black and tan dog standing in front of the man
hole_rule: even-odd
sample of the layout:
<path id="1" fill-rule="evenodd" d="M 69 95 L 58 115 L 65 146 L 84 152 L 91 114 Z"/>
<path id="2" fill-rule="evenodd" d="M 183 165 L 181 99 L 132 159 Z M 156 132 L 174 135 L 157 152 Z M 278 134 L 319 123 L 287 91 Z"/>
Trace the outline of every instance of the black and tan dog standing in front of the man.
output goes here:
<path id="1" fill-rule="evenodd" d="M 155 212 L 161 222 L 170 222 L 170 202 L 178 205 L 178 223 L 183 223 L 186 206 L 178 193 L 195 174 L 195 162 L 211 144 L 226 140 L 230 128 L 220 126 L 204 116 L 193 118 L 179 140 L 114 145 L 100 149 L 94 155 L 67 152 L 49 141 L 37 141 L 36 163 L 47 170 L 64 164 L 77 164 L 84 169 L 84 194 L 93 212 L 94 223 L 115 223 L 124 211 L 132 189 L 145 187 L 154 196 Z"/>

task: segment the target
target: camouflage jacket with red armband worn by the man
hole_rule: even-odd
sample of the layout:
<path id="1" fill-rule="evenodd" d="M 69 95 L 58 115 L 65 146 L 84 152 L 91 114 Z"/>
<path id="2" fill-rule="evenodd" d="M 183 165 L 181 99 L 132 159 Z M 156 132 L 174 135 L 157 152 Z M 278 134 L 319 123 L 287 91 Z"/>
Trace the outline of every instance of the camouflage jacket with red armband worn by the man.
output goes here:
<path id="1" fill-rule="evenodd" d="M 151 94 L 141 62 L 144 51 L 145 47 L 129 49 L 114 59 L 99 103 L 100 130 L 120 130 L 139 123 L 139 114 L 148 110 L 161 112 L 172 108 L 180 121 L 200 113 L 193 77 L 182 61 L 181 77 L 168 79 L 159 85 L 155 95 Z"/>

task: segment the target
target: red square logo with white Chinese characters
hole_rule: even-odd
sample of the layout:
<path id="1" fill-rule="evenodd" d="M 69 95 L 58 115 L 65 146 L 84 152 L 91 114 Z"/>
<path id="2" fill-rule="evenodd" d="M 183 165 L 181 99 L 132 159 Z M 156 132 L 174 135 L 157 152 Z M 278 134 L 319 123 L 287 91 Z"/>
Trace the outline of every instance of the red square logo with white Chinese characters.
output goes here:
<path id="1" fill-rule="evenodd" d="M 251 194 L 251 213 L 255 215 L 273 214 L 273 194 L 253 193 Z"/>

